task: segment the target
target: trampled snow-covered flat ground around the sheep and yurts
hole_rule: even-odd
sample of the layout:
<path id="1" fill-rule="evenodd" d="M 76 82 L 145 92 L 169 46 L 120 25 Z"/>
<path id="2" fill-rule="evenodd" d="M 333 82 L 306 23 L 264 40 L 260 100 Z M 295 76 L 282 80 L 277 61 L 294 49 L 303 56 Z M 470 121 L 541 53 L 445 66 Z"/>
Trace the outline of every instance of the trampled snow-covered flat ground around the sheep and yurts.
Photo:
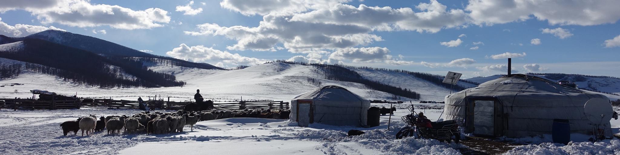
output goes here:
<path id="1" fill-rule="evenodd" d="M 460 154 L 459 151 L 470 149 L 463 144 L 433 139 L 394 139 L 397 129 L 404 125 L 400 117 L 409 113 L 406 106 L 410 104 L 394 105 L 397 111 L 391 117 L 389 131 L 390 116 L 386 115 L 381 116 L 381 125 L 373 128 L 320 124 L 299 127 L 288 120 L 227 118 L 198 122 L 193 131 L 186 126 L 183 133 L 120 136 L 108 136 L 105 131 L 92 136 L 79 136 L 79 133 L 63 136 L 59 124 L 89 114 L 131 115 L 139 110 L 1 110 L 0 154 Z M 414 105 L 416 112 L 425 112 L 432 120 L 439 117 L 443 108 L 442 104 Z M 389 104 L 373 106 L 389 107 Z M 619 125 L 620 121 L 612 120 L 612 123 Z M 347 137 L 346 132 L 352 129 L 366 134 Z M 617 139 L 569 146 L 544 143 L 550 140 L 546 138 L 511 140 L 536 144 L 516 146 L 507 152 L 510 154 L 620 153 Z"/>

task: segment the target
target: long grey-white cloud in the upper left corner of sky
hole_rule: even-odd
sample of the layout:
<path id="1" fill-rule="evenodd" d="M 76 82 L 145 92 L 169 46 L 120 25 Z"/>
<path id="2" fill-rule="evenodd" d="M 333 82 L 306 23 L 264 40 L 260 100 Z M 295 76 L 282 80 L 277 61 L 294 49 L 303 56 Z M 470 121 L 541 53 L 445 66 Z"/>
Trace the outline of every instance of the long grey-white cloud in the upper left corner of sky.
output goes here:
<path id="1" fill-rule="evenodd" d="M 86 0 L 4 1 L 0 12 L 30 12 L 43 24 L 58 23 L 72 27 L 109 25 L 115 29 L 151 29 L 170 22 L 168 12 L 159 8 L 134 11 L 121 6 L 91 4 Z"/>

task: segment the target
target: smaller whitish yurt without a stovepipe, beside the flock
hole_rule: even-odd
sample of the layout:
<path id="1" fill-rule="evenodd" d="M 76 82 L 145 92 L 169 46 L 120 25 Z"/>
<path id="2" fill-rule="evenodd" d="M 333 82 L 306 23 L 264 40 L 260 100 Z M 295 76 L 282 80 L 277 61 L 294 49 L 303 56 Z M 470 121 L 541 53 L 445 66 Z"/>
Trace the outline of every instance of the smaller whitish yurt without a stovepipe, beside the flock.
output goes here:
<path id="1" fill-rule="evenodd" d="M 290 118 L 299 126 L 322 123 L 365 126 L 370 100 L 339 86 L 324 86 L 291 99 Z"/>

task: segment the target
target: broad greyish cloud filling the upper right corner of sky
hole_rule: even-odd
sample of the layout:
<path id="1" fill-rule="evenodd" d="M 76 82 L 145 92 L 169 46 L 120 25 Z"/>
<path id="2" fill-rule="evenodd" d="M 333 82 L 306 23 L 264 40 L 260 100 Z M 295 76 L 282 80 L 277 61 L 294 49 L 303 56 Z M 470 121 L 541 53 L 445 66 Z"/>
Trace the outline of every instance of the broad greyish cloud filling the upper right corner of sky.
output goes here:
<path id="1" fill-rule="evenodd" d="M 531 19 L 551 25 L 613 24 L 620 19 L 620 1 L 470 0 L 466 11 L 477 25 L 504 24 Z"/>

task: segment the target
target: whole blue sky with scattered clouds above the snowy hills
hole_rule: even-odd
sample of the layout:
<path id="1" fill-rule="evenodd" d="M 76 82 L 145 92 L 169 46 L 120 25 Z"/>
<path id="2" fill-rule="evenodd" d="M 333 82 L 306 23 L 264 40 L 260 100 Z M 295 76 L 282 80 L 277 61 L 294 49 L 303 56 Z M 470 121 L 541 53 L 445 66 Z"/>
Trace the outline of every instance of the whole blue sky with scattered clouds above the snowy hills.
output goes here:
<path id="1" fill-rule="evenodd" d="M 620 77 L 619 3 L 27 0 L 0 4 L 0 34 L 61 29 L 223 67 L 294 60 L 472 78 L 505 74 L 512 57 L 518 73 Z"/>

